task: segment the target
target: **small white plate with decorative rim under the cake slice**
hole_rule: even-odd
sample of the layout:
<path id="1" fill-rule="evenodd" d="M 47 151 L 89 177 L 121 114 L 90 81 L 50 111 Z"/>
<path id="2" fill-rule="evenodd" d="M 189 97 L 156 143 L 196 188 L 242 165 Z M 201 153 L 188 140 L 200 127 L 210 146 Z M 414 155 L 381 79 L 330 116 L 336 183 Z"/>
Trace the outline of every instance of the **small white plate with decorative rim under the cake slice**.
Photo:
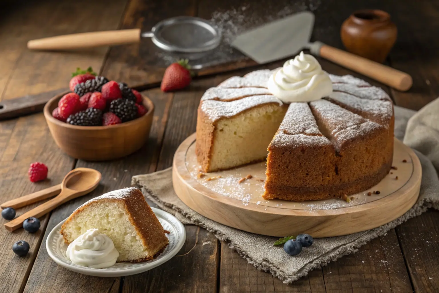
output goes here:
<path id="1" fill-rule="evenodd" d="M 163 228 L 171 232 L 170 234 L 166 234 L 166 237 L 169 239 L 169 245 L 166 247 L 165 251 L 163 251 L 157 258 L 151 261 L 142 262 L 142 263 L 116 263 L 115 265 L 109 268 L 86 268 L 77 264 L 73 264 L 70 260 L 67 260 L 66 250 L 67 244 L 65 244 L 62 239 L 61 234 L 61 225 L 65 222 L 62 221 L 58 225 L 53 228 L 53 230 L 49 233 L 46 240 L 46 249 L 49 256 L 59 265 L 64 268 L 67 268 L 71 271 L 76 271 L 77 273 L 84 275 L 91 275 L 97 277 L 122 277 L 128 275 L 139 274 L 144 271 L 151 270 L 151 268 L 155 268 L 166 261 L 170 260 L 177 252 L 180 251 L 181 247 L 183 247 L 184 241 L 186 240 L 186 230 L 184 229 L 183 224 L 176 219 L 170 213 L 166 213 L 164 210 L 159 210 L 152 208 L 152 211 L 162 224 Z"/>

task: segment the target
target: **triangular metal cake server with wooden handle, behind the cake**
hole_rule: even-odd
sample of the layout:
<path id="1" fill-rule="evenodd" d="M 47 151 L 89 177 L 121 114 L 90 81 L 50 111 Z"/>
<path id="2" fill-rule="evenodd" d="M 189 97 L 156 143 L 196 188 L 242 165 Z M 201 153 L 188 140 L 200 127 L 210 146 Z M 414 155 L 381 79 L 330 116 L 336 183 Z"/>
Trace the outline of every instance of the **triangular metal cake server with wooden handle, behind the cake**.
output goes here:
<path id="1" fill-rule="evenodd" d="M 310 43 L 313 26 L 314 14 L 310 11 L 303 11 L 242 33 L 231 45 L 259 64 L 294 56 L 303 49 L 309 49 L 311 54 L 342 65 L 397 90 L 405 91 L 412 86 L 412 78 L 405 72 L 319 41 Z"/>

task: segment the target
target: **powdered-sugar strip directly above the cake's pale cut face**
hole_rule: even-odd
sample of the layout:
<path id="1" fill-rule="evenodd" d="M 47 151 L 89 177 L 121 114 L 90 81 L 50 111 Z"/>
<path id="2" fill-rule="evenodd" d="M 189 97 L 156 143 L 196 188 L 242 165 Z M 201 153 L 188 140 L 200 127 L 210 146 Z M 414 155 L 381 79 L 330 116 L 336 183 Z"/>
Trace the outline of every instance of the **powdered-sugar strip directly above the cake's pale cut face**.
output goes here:
<path id="1" fill-rule="evenodd" d="M 215 121 L 219 118 L 235 116 L 257 105 L 270 103 L 276 103 L 279 106 L 283 105 L 283 103 L 273 95 L 257 95 L 230 102 L 206 100 L 202 102 L 201 110 L 209 116 L 212 121 Z"/>

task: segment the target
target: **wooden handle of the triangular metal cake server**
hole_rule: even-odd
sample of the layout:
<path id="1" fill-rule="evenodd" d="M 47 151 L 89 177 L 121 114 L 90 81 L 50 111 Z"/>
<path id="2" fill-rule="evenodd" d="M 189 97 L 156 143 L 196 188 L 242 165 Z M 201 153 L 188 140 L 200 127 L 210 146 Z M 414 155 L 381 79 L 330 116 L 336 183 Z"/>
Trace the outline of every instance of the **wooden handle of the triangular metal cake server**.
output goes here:
<path id="1" fill-rule="evenodd" d="M 316 46 L 314 46 L 314 44 Z M 338 65 L 349 68 L 396 90 L 409 90 L 413 84 L 412 77 L 406 72 L 360 57 L 358 55 L 315 42 L 310 46 L 311 53 L 320 55 Z M 314 50 L 313 50 L 314 49 Z"/>

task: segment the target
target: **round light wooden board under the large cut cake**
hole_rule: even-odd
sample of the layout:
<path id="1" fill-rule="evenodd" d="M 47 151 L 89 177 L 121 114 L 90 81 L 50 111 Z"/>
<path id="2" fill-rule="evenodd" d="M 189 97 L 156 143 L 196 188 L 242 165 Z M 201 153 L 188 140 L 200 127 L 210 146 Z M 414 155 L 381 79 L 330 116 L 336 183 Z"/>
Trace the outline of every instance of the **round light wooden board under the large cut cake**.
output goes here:
<path id="1" fill-rule="evenodd" d="M 195 156 L 195 134 L 192 134 L 175 153 L 173 187 L 191 209 L 233 228 L 270 236 L 308 233 L 315 238 L 331 237 L 379 227 L 410 210 L 419 195 L 421 163 L 397 139 L 393 166 L 395 169 L 380 183 L 351 195 L 353 199 L 349 203 L 342 199 L 302 203 L 265 200 L 261 196 L 265 162 L 203 174 Z M 252 178 L 239 183 L 247 175 Z"/>

